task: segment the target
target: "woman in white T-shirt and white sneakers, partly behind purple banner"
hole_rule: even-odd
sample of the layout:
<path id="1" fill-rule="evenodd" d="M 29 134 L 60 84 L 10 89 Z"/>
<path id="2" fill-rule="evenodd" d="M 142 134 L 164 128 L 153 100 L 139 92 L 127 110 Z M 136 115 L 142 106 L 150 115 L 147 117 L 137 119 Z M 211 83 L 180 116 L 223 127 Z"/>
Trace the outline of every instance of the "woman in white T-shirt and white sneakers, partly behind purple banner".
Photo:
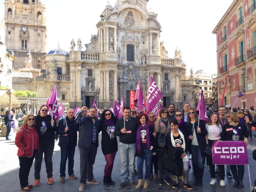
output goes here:
<path id="1" fill-rule="evenodd" d="M 208 134 L 206 136 L 206 144 L 209 145 L 209 148 L 212 148 L 212 144 L 220 139 L 220 133 L 222 132 L 222 127 L 219 124 L 218 113 L 214 112 L 210 114 L 209 122 L 206 124 L 206 130 Z M 207 165 L 210 167 L 211 182 L 210 185 L 215 185 L 216 175 L 215 175 L 215 165 L 212 163 L 212 155 L 206 156 Z M 225 186 L 225 169 L 224 165 L 218 165 L 220 172 L 220 186 Z"/>

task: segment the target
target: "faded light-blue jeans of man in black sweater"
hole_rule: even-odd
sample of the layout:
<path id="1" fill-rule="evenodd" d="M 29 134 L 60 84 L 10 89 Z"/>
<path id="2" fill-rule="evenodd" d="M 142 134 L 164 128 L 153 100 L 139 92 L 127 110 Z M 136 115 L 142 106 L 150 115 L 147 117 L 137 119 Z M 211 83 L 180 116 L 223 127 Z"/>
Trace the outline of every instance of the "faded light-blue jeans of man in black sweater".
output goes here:
<path id="1" fill-rule="evenodd" d="M 136 144 L 124 144 L 120 142 L 119 144 L 119 153 L 121 159 L 121 173 L 120 180 L 121 182 L 126 183 L 134 182 L 134 162 L 136 154 Z M 128 177 L 129 172 L 129 177 Z"/>

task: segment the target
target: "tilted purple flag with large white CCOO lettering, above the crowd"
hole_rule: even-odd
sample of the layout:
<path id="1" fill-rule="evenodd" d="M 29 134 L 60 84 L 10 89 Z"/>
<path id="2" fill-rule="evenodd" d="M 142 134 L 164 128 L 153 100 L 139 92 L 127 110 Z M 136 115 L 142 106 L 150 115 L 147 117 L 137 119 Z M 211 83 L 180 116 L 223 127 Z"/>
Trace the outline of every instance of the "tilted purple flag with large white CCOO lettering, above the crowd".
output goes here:
<path id="1" fill-rule="evenodd" d="M 150 113 L 157 103 L 161 100 L 162 98 L 162 93 L 160 92 L 158 86 L 156 85 L 156 82 L 152 77 L 150 77 L 150 84 L 148 86 L 148 97 L 147 97 L 147 102 L 146 102 L 146 110 L 148 113 Z"/>

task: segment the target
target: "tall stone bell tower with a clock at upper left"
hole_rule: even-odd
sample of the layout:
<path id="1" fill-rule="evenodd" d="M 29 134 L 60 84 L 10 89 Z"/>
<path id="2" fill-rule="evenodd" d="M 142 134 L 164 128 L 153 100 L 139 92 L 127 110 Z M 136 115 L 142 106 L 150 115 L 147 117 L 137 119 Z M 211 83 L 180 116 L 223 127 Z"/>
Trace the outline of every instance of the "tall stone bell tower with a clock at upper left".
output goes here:
<path id="1" fill-rule="evenodd" d="M 17 60 L 13 68 L 24 68 L 29 50 L 32 68 L 45 69 L 45 7 L 41 0 L 6 0 L 4 2 L 6 47 Z"/>

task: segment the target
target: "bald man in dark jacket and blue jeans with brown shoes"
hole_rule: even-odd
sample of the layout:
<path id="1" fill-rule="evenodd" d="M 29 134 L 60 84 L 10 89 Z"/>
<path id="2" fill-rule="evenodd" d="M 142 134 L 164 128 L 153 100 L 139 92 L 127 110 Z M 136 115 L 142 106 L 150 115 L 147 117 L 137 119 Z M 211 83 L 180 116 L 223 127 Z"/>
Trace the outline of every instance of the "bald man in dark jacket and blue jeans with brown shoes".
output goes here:
<path id="1" fill-rule="evenodd" d="M 57 134 L 60 135 L 60 182 L 65 182 L 66 162 L 68 159 L 68 178 L 77 179 L 74 175 L 74 155 L 77 143 L 78 124 L 74 119 L 74 110 L 67 111 L 67 117 L 59 121 Z"/>

